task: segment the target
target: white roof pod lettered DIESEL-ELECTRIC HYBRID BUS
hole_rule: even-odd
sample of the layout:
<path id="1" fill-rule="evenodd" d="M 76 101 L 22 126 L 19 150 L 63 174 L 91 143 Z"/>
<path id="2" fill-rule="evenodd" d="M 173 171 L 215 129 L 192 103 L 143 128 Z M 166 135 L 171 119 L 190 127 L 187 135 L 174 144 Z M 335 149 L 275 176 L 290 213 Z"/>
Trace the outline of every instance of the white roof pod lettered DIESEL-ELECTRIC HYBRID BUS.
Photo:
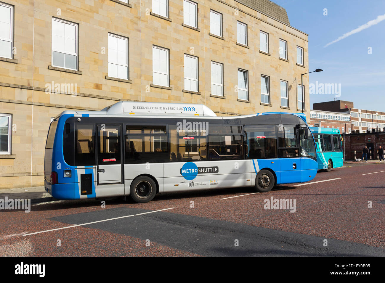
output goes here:
<path id="1" fill-rule="evenodd" d="M 210 116 L 216 114 L 206 105 L 187 103 L 119 101 L 102 109 L 107 115 Z"/>

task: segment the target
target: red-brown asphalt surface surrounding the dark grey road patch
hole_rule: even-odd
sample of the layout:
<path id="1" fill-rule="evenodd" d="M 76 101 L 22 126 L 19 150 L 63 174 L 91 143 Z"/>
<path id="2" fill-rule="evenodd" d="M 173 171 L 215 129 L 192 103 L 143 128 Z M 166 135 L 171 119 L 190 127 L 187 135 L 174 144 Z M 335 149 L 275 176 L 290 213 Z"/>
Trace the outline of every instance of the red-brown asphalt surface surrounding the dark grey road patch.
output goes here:
<path id="1" fill-rule="evenodd" d="M 350 164 L 349 164 L 350 165 Z M 140 208 L 151 211 L 171 208 L 168 213 L 219 219 L 251 226 L 334 238 L 385 248 L 385 164 L 360 164 L 318 172 L 310 181 L 341 178 L 322 183 L 277 186 L 268 193 L 251 188 L 219 189 L 159 194 L 150 203 L 136 204 L 121 199 L 55 201 L 35 204 L 30 213 L 0 212 L 0 255 L 2 256 L 197 256 L 145 239 L 78 226 L 30 236 L 49 229 L 70 226 L 49 218 L 111 208 Z M 228 198 L 231 196 L 239 196 Z M 296 212 L 265 210 L 264 199 L 296 199 Z M 190 202 L 194 201 L 194 208 Z M 368 208 L 368 201 L 372 208 Z M 105 218 L 101 218 L 102 220 Z M 110 221 L 113 222 L 113 221 Z M 112 225 L 112 223 L 111 223 Z M 57 246 L 57 240 L 61 246 Z M 182 239 L 181 239 L 182 240 Z"/>

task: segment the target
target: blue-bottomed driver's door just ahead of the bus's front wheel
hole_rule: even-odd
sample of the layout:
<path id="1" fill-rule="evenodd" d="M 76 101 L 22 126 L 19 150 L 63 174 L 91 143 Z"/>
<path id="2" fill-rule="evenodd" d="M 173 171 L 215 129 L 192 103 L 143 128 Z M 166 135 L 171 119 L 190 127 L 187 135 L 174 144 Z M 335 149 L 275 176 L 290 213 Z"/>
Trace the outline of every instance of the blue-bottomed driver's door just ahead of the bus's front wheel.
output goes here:
<path id="1" fill-rule="evenodd" d="M 300 138 L 296 126 L 283 126 L 278 131 L 281 183 L 301 183 Z"/>

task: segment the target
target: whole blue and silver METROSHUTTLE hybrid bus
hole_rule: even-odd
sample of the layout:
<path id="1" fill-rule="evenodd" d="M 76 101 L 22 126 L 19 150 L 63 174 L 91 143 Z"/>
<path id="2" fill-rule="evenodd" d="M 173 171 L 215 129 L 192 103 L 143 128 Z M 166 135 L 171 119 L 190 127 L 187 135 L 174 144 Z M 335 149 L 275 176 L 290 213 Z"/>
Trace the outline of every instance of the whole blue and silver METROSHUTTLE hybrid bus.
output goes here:
<path id="1" fill-rule="evenodd" d="M 57 199 L 253 187 L 313 179 L 318 164 L 303 114 L 217 117 L 201 104 L 117 102 L 64 111 L 50 125 L 45 190 Z"/>

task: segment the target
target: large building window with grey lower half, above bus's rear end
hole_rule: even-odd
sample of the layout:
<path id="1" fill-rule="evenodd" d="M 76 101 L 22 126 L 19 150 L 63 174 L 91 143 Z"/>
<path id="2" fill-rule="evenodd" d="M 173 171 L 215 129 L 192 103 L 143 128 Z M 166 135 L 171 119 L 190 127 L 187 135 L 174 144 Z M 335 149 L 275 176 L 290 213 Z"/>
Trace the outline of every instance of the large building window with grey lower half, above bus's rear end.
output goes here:
<path id="1" fill-rule="evenodd" d="M 52 18 L 52 66 L 77 70 L 78 25 Z"/>

